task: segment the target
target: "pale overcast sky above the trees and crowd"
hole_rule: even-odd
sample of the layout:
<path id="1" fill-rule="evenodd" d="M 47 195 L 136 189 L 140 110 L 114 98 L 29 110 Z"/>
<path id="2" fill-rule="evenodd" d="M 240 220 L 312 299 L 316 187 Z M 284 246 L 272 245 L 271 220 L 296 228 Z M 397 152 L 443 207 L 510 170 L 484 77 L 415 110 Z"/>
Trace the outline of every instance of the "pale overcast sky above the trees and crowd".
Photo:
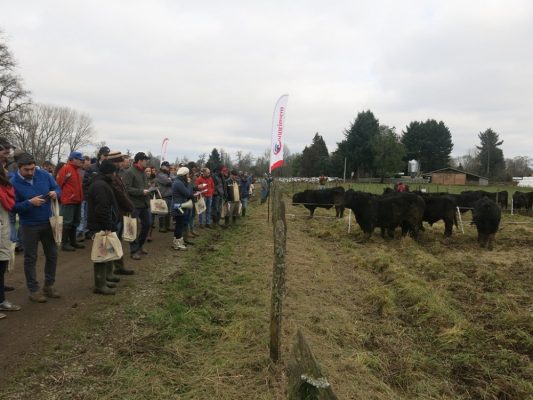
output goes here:
<path id="1" fill-rule="evenodd" d="M 118 150 L 260 155 L 289 94 L 286 145 L 329 151 L 357 113 L 398 132 L 442 120 L 452 155 L 492 128 L 533 157 L 533 1 L 1 1 L 35 102 L 89 114 Z"/>

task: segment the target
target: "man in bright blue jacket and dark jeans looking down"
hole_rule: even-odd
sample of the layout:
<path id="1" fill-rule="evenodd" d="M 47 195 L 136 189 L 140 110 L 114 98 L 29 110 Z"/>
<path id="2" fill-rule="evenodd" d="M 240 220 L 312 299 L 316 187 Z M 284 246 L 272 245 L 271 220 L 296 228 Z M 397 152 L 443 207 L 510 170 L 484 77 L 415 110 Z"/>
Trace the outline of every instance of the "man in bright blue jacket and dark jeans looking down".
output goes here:
<path id="1" fill-rule="evenodd" d="M 17 159 L 18 171 L 13 174 L 11 184 L 15 188 L 15 207 L 19 214 L 24 245 L 24 274 L 30 291 L 30 300 L 44 303 L 46 297 L 59 298 L 54 288 L 57 245 L 54 240 L 50 217 L 52 208 L 50 199 L 58 198 L 61 190 L 54 178 L 43 170 L 37 169 L 31 154 L 22 154 Z M 37 264 L 37 247 L 42 243 L 46 262 L 44 265 L 44 287 L 39 292 L 39 282 L 35 265 Z"/>

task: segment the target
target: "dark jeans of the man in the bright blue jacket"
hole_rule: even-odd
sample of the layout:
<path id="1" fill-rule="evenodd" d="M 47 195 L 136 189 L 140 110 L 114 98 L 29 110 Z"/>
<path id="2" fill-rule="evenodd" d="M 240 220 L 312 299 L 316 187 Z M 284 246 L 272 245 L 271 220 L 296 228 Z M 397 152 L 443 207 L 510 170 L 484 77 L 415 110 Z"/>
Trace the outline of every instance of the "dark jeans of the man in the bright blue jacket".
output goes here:
<path id="1" fill-rule="evenodd" d="M 56 280 L 57 266 L 57 245 L 52 233 L 50 223 L 42 225 L 23 225 L 24 238 L 24 274 L 26 275 L 26 286 L 30 292 L 35 293 L 39 290 L 37 282 L 37 247 L 41 242 L 46 258 L 44 264 L 44 284 L 52 286 Z"/>

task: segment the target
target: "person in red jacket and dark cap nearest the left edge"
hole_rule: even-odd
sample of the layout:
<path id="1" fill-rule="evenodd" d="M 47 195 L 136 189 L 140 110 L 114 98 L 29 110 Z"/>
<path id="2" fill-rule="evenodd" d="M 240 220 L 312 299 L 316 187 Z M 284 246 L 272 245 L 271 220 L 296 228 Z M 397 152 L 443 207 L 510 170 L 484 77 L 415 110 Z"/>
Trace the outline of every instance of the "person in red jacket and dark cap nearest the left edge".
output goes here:
<path id="1" fill-rule="evenodd" d="M 79 169 L 83 155 L 73 151 L 68 162 L 57 173 L 57 184 L 61 188 L 61 215 L 63 216 L 63 251 L 83 249 L 85 246 L 76 241 L 76 228 L 81 221 L 81 202 L 83 190 Z"/>

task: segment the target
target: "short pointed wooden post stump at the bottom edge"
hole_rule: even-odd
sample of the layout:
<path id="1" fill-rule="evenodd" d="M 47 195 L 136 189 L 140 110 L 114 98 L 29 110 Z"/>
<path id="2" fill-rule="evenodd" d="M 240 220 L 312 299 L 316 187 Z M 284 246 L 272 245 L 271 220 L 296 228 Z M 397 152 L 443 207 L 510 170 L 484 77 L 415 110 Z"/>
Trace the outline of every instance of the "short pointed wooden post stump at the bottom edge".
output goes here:
<path id="1" fill-rule="evenodd" d="M 288 368 L 289 400 L 338 400 L 298 329 Z"/>

